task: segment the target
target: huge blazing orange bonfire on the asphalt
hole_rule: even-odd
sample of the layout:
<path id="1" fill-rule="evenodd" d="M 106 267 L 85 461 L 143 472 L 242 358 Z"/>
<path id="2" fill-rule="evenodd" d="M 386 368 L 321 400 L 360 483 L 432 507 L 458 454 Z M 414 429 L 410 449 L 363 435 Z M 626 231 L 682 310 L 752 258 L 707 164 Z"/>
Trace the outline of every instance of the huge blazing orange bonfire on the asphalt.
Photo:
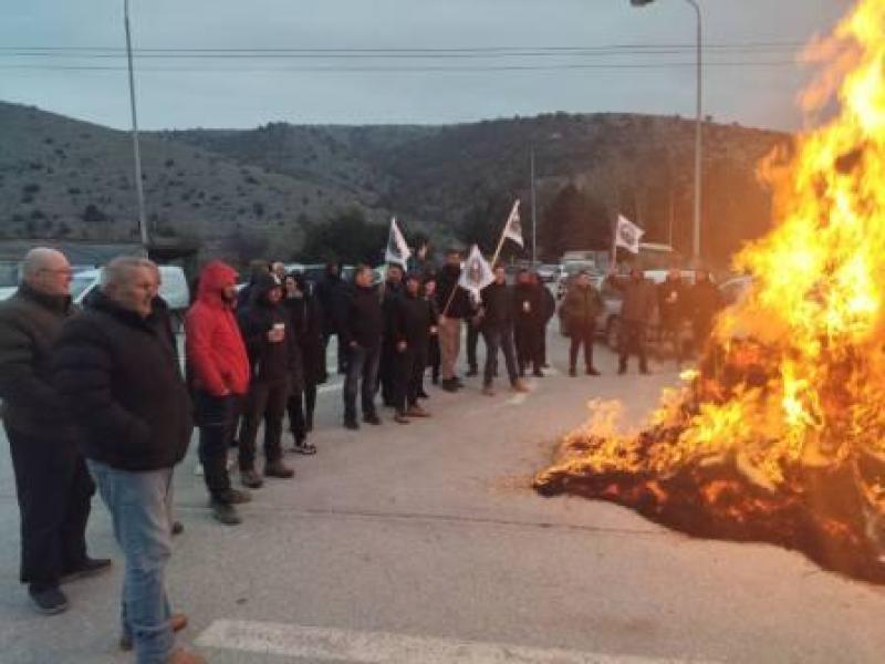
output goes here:
<path id="1" fill-rule="evenodd" d="M 885 579 L 885 0 L 804 56 L 822 68 L 804 110 L 837 112 L 760 165 L 780 222 L 735 260 L 751 291 L 645 430 L 591 404 L 535 486 Z"/>

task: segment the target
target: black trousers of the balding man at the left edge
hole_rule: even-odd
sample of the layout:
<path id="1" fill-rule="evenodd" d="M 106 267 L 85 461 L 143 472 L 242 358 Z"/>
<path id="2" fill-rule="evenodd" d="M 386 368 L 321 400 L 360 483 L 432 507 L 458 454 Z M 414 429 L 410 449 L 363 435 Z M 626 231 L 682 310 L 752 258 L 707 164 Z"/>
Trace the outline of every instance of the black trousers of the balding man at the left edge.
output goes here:
<path id="1" fill-rule="evenodd" d="M 72 440 L 4 428 L 21 513 L 19 578 L 37 590 L 51 588 L 86 558 L 95 484 Z"/>

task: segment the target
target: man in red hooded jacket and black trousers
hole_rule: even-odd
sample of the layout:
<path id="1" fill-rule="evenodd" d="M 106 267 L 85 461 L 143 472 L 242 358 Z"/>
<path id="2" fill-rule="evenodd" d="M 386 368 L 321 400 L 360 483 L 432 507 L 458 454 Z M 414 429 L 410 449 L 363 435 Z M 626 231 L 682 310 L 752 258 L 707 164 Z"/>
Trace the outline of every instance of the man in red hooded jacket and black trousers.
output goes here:
<path id="1" fill-rule="evenodd" d="M 207 264 L 197 301 L 185 319 L 188 377 L 200 427 L 199 458 L 212 515 L 228 526 L 241 520 L 233 506 L 250 500 L 247 491 L 231 488 L 227 467 L 237 403 L 249 390 L 249 361 L 233 317 L 236 280 L 230 266 Z"/>

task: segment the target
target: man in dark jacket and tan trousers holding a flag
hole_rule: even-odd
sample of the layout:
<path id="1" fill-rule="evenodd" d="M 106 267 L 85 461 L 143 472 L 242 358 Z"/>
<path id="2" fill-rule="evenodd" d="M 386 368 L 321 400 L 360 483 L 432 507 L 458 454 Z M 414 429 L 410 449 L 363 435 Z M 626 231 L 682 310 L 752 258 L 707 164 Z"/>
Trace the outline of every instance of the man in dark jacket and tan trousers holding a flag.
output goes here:
<path id="1" fill-rule="evenodd" d="M 461 255 L 450 250 L 446 253 L 446 264 L 437 274 L 437 298 L 439 305 L 439 351 L 441 355 L 440 386 L 447 392 L 460 390 L 461 381 L 455 375 L 458 354 L 461 350 L 461 320 L 470 313 L 467 291 L 458 286 L 461 277 Z"/>

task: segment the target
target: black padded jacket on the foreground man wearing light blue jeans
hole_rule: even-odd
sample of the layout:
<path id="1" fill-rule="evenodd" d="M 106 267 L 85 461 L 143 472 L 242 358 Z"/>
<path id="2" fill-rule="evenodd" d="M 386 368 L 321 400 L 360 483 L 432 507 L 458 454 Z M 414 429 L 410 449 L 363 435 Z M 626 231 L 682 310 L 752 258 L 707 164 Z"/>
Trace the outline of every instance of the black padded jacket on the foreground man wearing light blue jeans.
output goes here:
<path id="1" fill-rule="evenodd" d="M 190 396 L 174 349 L 149 319 L 98 292 L 64 324 L 54 383 L 87 458 L 132 473 L 184 458 Z"/>

